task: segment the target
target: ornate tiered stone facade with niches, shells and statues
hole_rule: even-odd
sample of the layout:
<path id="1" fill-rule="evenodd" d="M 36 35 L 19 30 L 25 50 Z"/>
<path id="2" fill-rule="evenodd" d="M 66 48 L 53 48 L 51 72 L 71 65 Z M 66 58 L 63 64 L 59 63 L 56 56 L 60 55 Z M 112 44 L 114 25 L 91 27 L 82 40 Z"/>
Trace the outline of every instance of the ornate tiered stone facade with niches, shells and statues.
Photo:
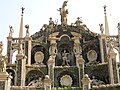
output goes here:
<path id="1" fill-rule="evenodd" d="M 23 37 L 22 9 L 18 38 L 13 37 L 13 28 L 10 26 L 7 37 L 8 63 L 3 71 L 13 77 L 12 86 L 34 86 L 45 90 L 71 86 L 89 90 L 93 76 L 104 84 L 120 81 L 119 64 L 115 61 L 115 52 L 112 52 L 113 48 L 120 51 L 120 32 L 117 36 L 107 36 L 104 34 L 103 24 L 100 24 L 101 34 L 94 33 L 79 17 L 73 25 L 68 25 L 68 10 L 65 9 L 67 2 L 64 1 L 62 8 L 58 10 L 61 24 L 54 23 L 50 18 L 49 25 L 44 24 L 40 31 L 31 36 L 29 25 L 25 25 L 26 36 Z M 120 31 L 119 24 L 118 30 Z M 15 51 L 18 51 L 16 59 L 12 57 Z M 0 54 L 1 52 L 2 48 Z M 101 75 L 101 72 L 105 75 Z"/>

